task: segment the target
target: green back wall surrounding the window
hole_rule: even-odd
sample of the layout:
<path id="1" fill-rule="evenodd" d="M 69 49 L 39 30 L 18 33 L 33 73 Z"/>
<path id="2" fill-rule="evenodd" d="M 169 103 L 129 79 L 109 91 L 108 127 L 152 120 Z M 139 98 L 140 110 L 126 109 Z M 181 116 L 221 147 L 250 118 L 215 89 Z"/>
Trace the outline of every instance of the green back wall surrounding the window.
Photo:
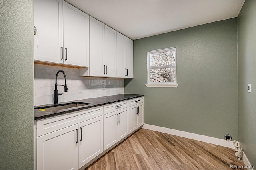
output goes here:
<path id="1" fill-rule="evenodd" d="M 232 18 L 134 41 L 125 93 L 145 94 L 145 123 L 238 140 L 236 27 Z M 147 51 L 168 47 L 177 47 L 178 88 L 146 87 Z"/>

